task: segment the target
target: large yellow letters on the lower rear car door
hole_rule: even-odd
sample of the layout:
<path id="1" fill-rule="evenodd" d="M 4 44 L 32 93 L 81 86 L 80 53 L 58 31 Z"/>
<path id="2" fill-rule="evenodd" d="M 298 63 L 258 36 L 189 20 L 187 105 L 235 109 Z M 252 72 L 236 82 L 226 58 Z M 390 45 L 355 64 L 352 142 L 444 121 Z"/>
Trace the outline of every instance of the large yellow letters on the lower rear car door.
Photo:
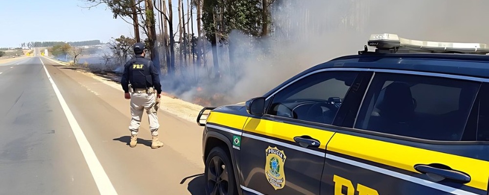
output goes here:
<path id="1" fill-rule="evenodd" d="M 355 195 L 355 191 L 358 191 L 358 195 L 378 195 L 377 190 L 374 190 L 362 184 L 356 184 L 355 189 L 352 181 L 340 176 L 333 175 L 333 182 L 334 195 Z M 347 189 L 346 194 L 343 194 L 342 192 L 343 187 Z"/>

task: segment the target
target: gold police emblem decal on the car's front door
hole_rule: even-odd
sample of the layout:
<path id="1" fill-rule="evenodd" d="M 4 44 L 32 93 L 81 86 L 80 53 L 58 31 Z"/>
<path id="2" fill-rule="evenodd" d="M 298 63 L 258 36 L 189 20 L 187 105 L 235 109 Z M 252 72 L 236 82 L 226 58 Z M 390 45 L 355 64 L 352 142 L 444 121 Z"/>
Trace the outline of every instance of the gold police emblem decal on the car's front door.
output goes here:
<path id="1" fill-rule="evenodd" d="M 267 156 L 265 162 L 265 176 L 267 176 L 268 183 L 270 183 L 275 190 L 284 188 L 284 164 L 287 156 L 285 156 L 284 151 L 277 149 L 277 147 L 272 148 L 270 146 L 265 150 L 265 153 Z"/>

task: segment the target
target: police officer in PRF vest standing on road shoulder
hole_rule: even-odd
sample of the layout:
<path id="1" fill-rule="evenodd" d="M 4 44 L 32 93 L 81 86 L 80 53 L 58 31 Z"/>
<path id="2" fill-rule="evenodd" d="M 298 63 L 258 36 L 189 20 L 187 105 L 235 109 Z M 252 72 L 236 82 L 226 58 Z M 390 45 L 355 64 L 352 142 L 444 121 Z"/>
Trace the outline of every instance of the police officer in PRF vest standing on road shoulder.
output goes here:
<path id="1" fill-rule="evenodd" d="M 161 97 L 161 84 L 159 81 L 158 71 L 153 62 L 145 59 L 144 44 L 136 43 L 133 46 L 135 58 L 130 59 L 124 65 L 124 74 L 122 75 L 122 88 L 124 89 L 124 98 L 131 99 L 131 141 L 129 146 L 135 147 L 137 144 L 137 132 L 140 127 L 143 111 L 148 114 L 151 135 L 153 137 L 151 148 L 159 148 L 163 143 L 158 140 L 158 117 L 156 117 L 156 98 Z M 155 98 L 155 90 L 157 92 Z M 131 93 L 130 93 L 131 92 Z"/>

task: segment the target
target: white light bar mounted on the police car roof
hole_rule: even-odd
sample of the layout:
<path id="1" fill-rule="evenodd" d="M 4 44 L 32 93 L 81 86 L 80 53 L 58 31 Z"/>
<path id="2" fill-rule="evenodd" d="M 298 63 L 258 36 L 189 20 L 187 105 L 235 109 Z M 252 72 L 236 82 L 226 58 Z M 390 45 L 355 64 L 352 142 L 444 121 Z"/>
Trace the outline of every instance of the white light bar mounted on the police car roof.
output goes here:
<path id="1" fill-rule="evenodd" d="M 488 54 L 489 46 L 483 43 L 435 42 L 400 38 L 396 34 L 374 34 L 368 45 L 378 50 L 405 48 L 412 52 L 452 52 L 463 54 Z"/>

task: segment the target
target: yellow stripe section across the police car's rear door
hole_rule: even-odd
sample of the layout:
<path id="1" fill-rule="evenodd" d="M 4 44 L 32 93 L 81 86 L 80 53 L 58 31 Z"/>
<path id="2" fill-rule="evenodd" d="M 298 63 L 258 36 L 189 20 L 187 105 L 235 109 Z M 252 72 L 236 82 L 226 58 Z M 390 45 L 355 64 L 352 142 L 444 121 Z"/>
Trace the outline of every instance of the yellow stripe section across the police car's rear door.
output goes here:
<path id="1" fill-rule="evenodd" d="M 321 143 L 322 144 L 322 143 Z M 337 133 L 328 151 L 400 168 L 414 173 L 416 164 L 440 163 L 471 177 L 467 186 L 487 190 L 489 162 L 442 152 L 405 146 L 365 137 Z"/>

